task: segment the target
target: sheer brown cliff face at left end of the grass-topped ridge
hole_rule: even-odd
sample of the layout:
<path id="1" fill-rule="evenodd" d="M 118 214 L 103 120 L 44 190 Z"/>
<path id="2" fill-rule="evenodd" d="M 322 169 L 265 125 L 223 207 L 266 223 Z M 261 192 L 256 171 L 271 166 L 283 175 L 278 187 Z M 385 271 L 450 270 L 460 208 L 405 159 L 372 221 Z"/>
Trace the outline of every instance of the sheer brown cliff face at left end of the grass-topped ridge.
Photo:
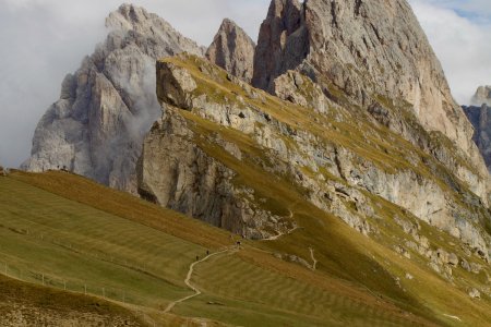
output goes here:
<path id="1" fill-rule="evenodd" d="M 207 72 L 214 69 L 201 66 Z M 250 239 L 287 232 L 292 228 L 288 217 L 274 215 L 251 202 L 252 191 L 233 183 L 237 173 L 199 146 L 214 143 L 241 159 L 237 145 L 218 134 L 206 136 L 180 113 L 195 108 L 218 113 L 221 109 L 207 102 L 204 95 L 194 97 L 197 88 L 187 69 L 171 61 L 157 63 L 157 96 L 166 113 L 145 137 L 137 165 L 140 195 Z"/>

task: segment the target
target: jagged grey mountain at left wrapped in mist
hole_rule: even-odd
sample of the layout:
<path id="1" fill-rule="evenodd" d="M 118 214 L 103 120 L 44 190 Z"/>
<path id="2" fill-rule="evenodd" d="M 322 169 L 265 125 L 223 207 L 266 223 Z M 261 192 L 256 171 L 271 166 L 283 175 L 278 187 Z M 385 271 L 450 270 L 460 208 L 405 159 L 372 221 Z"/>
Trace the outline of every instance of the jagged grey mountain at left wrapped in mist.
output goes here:
<path id="1" fill-rule="evenodd" d="M 136 193 L 135 162 L 144 135 L 160 117 L 157 58 L 203 50 L 167 22 L 123 4 L 107 21 L 106 41 L 63 81 L 60 99 L 37 125 L 29 171 L 65 167 Z"/>

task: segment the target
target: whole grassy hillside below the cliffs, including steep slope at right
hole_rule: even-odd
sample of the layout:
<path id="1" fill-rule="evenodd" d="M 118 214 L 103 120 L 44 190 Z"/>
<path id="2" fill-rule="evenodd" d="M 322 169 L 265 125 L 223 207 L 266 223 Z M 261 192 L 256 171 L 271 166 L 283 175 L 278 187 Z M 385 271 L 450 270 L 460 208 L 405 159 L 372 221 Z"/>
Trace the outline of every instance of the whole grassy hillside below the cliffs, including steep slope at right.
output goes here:
<path id="1" fill-rule="evenodd" d="M 275 187 L 279 205 L 296 203 L 296 192 Z M 151 325 L 460 325 L 448 314 L 462 325 L 486 326 L 490 319 L 488 299 L 470 301 L 304 204 L 290 206 L 304 229 L 274 242 L 242 241 L 238 250 L 223 230 L 69 173 L 13 172 L 0 178 L 0 195 L 2 274 L 7 264 L 8 276 L 37 290 L 76 292 L 81 303 L 86 286 L 88 294 L 142 313 Z M 307 245 L 316 270 L 277 258 L 295 254 L 310 263 Z M 224 249 L 194 267 L 190 282 L 202 294 L 164 314 L 194 293 L 184 279 L 196 255 Z M 415 276 L 404 290 L 393 280 L 402 271 Z"/>

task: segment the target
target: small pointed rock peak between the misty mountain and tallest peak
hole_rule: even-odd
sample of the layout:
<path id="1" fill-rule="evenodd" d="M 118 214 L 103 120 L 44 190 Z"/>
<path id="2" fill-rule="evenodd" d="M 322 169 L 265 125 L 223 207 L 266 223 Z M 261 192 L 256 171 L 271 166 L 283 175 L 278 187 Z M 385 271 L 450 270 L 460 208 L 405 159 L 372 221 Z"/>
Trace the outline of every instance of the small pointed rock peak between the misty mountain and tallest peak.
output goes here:
<path id="1" fill-rule="evenodd" d="M 230 74 L 251 83 L 254 65 L 254 41 L 235 22 L 224 20 L 206 58 Z"/>

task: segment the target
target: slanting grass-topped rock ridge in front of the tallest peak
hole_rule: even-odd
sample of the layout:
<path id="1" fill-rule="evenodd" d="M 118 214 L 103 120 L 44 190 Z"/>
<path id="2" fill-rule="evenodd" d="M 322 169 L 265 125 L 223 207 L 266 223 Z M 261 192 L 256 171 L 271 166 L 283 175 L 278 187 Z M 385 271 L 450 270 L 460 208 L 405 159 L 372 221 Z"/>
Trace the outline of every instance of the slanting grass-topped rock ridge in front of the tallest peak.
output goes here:
<path id="1" fill-rule="evenodd" d="M 273 199 L 258 196 L 264 191 L 250 184 L 265 179 L 254 175 L 265 171 L 363 234 L 378 233 L 376 217 L 386 215 L 383 198 L 488 259 L 490 237 L 482 226 L 490 217 L 470 185 L 388 129 L 328 99 L 327 112 L 310 107 L 319 89 L 310 78 L 289 74 L 307 107 L 228 81 L 193 57 L 159 61 L 157 94 L 168 116 L 145 140 L 140 194 L 246 237 L 267 238 L 295 222 L 268 210 Z M 232 210 L 230 204 L 249 209 Z"/>

